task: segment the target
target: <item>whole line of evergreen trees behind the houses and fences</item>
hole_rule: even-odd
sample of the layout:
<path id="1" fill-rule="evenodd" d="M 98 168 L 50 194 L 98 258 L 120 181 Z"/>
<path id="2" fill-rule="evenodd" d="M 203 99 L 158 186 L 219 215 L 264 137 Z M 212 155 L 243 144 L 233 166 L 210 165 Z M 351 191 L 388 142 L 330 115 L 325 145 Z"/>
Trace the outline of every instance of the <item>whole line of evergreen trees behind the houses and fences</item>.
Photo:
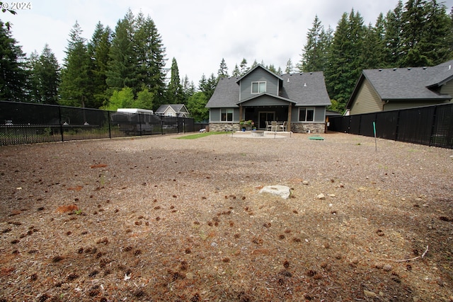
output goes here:
<path id="1" fill-rule="evenodd" d="M 285 71 L 273 64 L 275 74 L 323 71 L 333 105 L 343 111 L 362 69 L 432 66 L 453 58 L 453 13 L 435 0 L 402 1 L 393 11 L 365 25 L 359 12 L 343 13 L 336 29 L 324 28 L 319 18 L 306 34 L 301 59 L 288 60 Z M 6 12 L 8 13 L 8 12 Z M 10 12 L 11 13 L 11 12 Z M 207 101 L 217 81 L 229 76 L 224 59 L 217 76 L 202 75 L 197 87 L 180 78 L 176 58 L 165 69 L 161 35 L 149 16 L 127 11 L 115 29 L 96 25 L 91 40 L 82 37 L 76 22 L 69 33 L 62 66 L 45 45 L 41 54 L 26 57 L 0 20 L 0 99 L 86 108 L 144 108 L 183 103 L 195 120 L 207 120 Z M 256 66 L 245 58 L 231 76 Z"/>

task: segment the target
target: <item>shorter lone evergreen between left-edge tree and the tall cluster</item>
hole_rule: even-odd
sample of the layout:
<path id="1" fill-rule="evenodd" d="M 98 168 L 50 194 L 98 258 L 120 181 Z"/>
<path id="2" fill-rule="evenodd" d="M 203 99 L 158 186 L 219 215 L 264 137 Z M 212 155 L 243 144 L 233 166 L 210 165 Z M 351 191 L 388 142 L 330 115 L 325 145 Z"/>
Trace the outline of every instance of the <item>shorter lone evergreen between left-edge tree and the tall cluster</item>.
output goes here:
<path id="1" fill-rule="evenodd" d="M 57 105 L 60 70 L 57 58 L 49 45 L 44 46 L 40 56 L 38 56 L 38 52 L 32 52 L 28 62 L 30 66 L 30 101 Z"/>

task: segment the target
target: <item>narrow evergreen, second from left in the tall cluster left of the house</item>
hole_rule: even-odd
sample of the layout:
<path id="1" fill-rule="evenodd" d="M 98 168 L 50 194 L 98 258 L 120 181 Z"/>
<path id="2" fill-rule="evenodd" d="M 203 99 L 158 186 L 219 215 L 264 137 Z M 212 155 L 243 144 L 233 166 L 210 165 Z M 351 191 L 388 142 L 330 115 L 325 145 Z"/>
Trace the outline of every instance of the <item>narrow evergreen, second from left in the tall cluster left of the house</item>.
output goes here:
<path id="1" fill-rule="evenodd" d="M 108 100 L 107 79 L 108 62 L 110 61 L 109 52 L 112 43 L 112 31 L 109 27 L 104 28 L 101 22 L 96 24 L 96 28 L 88 42 L 88 54 L 91 58 L 91 98 L 93 98 L 93 108 L 100 108 Z"/>

